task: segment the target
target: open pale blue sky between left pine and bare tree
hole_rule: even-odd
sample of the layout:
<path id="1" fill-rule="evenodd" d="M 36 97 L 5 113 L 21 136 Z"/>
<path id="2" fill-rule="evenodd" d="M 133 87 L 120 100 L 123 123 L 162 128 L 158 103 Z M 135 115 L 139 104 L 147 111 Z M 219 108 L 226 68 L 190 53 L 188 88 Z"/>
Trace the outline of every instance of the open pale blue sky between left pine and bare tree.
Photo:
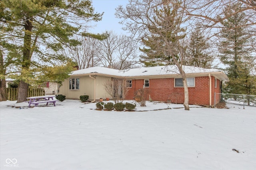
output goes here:
<path id="1" fill-rule="evenodd" d="M 115 16 L 115 8 L 117 8 L 118 5 L 126 6 L 127 3 L 128 0 L 92 0 L 94 12 L 104 12 L 104 14 L 102 20 L 92 23 L 92 25 L 96 26 L 90 28 L 88 31 L 91 33 L 102 33 L 112 30 L 116 33 L 125 33 L 125 31 L 122 30 L 122 25 L 118 23 L 121 19 Z"/>

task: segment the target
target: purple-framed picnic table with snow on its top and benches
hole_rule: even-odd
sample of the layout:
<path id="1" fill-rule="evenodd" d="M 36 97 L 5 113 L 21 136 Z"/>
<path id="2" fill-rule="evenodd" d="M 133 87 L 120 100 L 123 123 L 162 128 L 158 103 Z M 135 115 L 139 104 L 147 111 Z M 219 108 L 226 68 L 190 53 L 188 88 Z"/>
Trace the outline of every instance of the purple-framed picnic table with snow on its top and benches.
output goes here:
<path id="1" fill-rule="evenodd" d="M 27 99 L 29 99 L 28 102 L 28 107 L 30 107 L 31 104 L 34 104 L 36 107 L 38 106 L 38 104 L 40 103 L 46 103 L 46 106 L 48 106 L 48 103 L 53 103 L 54 106 L 55 103 L 58 101 L 56 99 L 54 99 L 54 95 L 52 96 L 33 96 L 33 97 L 29 97 Z"/>

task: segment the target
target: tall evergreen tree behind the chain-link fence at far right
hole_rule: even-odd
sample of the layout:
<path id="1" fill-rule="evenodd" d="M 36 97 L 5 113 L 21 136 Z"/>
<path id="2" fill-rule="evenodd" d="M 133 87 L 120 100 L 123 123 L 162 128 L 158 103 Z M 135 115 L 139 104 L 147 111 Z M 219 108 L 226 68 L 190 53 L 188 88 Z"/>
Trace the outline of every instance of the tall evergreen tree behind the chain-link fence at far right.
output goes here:
<path id="1" fill-rule="evenodd" d="M 229 9 L 229 10 L 227 10 Z M 232 9 L 232 10 L 230 10 Z M 225 16 L 240 10 L 240 5 L 228 6 Z M 220 60 L 226 64 L 225 69 L 230 79 L 226 83 L 225 91 L 232 94 L 255 94 L 255 76 L 253 76 L 254 59 L 250 54 L 248 35 L 246 35 L 247 22 L 244 13 L 237 13 L 222 22 L 219 51 Z"/>

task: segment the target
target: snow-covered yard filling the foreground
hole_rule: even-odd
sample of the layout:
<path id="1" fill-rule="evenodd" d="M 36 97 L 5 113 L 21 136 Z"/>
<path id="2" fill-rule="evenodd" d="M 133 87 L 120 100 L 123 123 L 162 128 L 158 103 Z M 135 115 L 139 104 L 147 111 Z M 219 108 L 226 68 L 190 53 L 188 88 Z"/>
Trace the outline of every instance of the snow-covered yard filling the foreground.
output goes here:
<path id="1" fill-rule="evenodd" d="M 79 100 L 27 106 L 0 102 L 1 170 L 256 169 L 255 110 L 147 102 L 134 112 L 98 111 Z"/>

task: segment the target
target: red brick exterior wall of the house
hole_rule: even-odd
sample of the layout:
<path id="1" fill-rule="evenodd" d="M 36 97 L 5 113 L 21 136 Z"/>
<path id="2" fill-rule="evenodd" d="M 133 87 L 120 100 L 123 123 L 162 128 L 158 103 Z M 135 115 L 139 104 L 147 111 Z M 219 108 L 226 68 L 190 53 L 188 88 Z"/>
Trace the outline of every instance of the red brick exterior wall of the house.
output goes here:
<path id="1" fill-rule="evenodd" d="M 220 93 L 220 80 L 217 79 L 217 87 L 215 88 L 215 78 L 211 76 L 212 96 L 211 105 L 214 105 L 214 92 Z M 126 99 L 133 100 L 135 92 L 143 88 L 144 79 L 132 80 Z M 146 100 L 149 100 L 149 94 L 154 101 L 171 102 L 177 104 L 184 103 L 184 88 L 174 87 L 174 78 L 155 78 L 149 79 L 149 87 L 146 90 Z M 210 78 L 208 76 L 195 77 L 195 87 L 188 87 L 189 104 L 210 105 Z"/>

